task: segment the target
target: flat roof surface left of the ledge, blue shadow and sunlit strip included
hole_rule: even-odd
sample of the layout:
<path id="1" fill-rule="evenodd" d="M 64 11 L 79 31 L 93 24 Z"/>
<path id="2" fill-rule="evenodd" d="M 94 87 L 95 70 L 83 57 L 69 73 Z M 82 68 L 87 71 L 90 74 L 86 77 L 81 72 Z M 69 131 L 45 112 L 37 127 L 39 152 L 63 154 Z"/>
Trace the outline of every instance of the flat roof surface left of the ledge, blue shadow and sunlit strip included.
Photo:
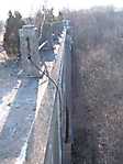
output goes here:
<path id="1" fill-rule="evenodd" d="M 38 80 L 18 78 L 16 66 L 0 67 L 0 164 L 13 164 L 34 120 Z"/>

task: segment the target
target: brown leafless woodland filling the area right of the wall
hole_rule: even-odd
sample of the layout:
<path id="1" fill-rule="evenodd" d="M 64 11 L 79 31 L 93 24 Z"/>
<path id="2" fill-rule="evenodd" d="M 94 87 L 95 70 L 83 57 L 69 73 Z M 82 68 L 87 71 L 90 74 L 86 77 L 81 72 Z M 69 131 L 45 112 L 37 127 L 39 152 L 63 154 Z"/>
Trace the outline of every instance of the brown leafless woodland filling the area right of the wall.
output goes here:
<path id="1" fill-rule="evenodd" d="M 78 75 L 75 163 L 122 164 L 123 11 L 94 8 L 69 18 Z"/>

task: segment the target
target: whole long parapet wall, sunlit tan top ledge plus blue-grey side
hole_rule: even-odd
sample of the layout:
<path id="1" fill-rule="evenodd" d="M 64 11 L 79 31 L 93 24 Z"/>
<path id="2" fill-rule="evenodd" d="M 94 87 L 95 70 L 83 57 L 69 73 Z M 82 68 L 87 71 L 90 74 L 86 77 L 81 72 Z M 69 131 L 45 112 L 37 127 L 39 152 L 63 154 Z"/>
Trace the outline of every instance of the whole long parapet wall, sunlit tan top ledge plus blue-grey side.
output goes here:
<path id="1" fill-rule="evenodd" d="M 59 88 L 62 101 L 53 83 L 47 77 L 41 79 L 40 103 L 27 142 L 25 164 L 63 164 L 66 158 L 68 164 L 70 161 L 70 44 L 66 30 L 59 42 L 51 77 Z"/>

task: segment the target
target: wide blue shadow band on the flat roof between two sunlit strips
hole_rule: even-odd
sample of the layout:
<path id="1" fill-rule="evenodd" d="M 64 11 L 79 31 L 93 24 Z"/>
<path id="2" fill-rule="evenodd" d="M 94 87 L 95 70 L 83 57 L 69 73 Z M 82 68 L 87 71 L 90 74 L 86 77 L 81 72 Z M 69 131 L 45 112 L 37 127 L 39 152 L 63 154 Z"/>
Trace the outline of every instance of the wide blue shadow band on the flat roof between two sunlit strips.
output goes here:
<path id="1" fill-rule="evenodd" d="M 34 120 L 37 86 L 36 78 L 23 79 L 0 133 L 0 161 L 19 157 Z"/>

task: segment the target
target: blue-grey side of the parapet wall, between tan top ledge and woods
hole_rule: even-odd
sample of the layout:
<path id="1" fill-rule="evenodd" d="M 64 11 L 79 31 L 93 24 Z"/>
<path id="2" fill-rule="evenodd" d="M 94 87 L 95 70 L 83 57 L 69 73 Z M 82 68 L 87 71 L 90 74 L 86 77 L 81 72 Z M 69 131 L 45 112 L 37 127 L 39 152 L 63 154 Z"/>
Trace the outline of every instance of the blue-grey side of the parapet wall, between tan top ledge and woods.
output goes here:
<path id="1" fill-rule="evenodd" d="M 45 164 L 70 164 L 71 160 L 71 37 L 66 32 L 59 54 L 62 105 L 56 94 Z"/>

